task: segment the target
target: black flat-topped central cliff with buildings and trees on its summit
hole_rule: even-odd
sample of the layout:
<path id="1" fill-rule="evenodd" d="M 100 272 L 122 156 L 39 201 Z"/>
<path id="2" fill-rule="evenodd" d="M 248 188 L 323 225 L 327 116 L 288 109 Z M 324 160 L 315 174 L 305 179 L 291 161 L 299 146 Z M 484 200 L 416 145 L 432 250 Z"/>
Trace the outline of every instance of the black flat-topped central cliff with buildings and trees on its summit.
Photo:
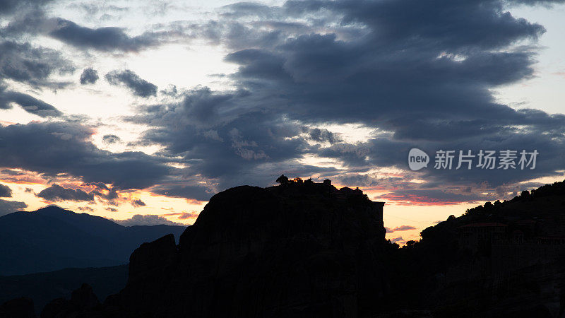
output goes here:
<path id="1" fill-rule="evenodd" d="M 357 317 L 386 289 L 383 204 L 329 184 L 235 187 L 131 255 L 109 298 L 145 317 Z"/>

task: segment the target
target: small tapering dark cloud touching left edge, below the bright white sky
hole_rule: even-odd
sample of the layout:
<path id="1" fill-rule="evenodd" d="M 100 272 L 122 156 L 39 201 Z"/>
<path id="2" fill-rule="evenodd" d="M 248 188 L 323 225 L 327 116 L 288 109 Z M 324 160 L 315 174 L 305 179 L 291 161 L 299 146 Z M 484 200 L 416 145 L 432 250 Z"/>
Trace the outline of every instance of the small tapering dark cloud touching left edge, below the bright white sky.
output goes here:
<path id="1" fill-rule="evenodd" d="M 47 102 L 38 100 L 28 94 L 5 90 L 5 88 L 0 86 L 0 110 L 11 109 L 12 103 L 22 107 L 26 112 L 40 117 L 58 117 L 62 114 L 57 108 L 47 104 Z"/>

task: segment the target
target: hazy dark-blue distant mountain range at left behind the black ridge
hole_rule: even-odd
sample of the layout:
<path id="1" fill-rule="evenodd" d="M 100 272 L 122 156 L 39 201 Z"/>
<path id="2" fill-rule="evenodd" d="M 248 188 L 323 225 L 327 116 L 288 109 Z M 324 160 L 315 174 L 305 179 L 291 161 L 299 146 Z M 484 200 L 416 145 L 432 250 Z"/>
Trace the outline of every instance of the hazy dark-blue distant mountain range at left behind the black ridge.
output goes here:
<path id="1" fill-rule="evenodd" d="M 141 243 L 169 233 L 179 237 L 184 230 L 171 225 L 125 227 L 57 206 L 11 213 L 0 217 L 0 276 L 127 264 Z"/>

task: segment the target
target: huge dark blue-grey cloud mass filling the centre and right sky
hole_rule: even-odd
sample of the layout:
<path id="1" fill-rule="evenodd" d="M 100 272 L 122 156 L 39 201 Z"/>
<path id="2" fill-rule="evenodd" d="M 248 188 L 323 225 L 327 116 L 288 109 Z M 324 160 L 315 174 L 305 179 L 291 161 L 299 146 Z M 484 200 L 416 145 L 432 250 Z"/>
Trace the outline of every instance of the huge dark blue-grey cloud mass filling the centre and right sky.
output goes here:
<path id="1" fill-rule="evenodd" d="M 413 189 L 422 196 L 482 199 L 431 188 L 442 181 L 486 181 L 499 187 L 556 175 L 565 155 L 563 115 L 514 110 L 492 96 L 496 86 L 533 76 L 535 41 L 545 33 L 542 25 L 506 12 L 505 5 L 410 0 L 227 6 L 224 20 L 206 23 L 201 35 L 232 48 L 225 60 L 238 66 L 231 75 L 237 89 L 185 91 L 182 100 L 142 108 L 131 120 L 154 127 L 143 142 L 182 156 L 180 161 L 189 165 L 186 175 L 213 179 L 220 189 L 241 183 L 234 181 L 241 175 L 268 184 L 270 176 L 260 174 L 269 175 L 269 169 L 303 175 L 352 175 L 372 167 L 407 170 L 408 151 L 414 147 L 431 155 L 441 148 L 471 146 L 473 151 L 544 153 L 535 170 L 417 172 L 430 188 L 426 193 Z M 234 17 L 250 22 L 230 20 Z M 316 128 L 326 122 L 362 123 L 386 134 L 347 143 Z M 310 146 L 311 141 L 329 145 Z M 335 158 L 345 168 L 299 163 L 309 154 Z M 376 184 L 374 179 L 357 182 Z"/>

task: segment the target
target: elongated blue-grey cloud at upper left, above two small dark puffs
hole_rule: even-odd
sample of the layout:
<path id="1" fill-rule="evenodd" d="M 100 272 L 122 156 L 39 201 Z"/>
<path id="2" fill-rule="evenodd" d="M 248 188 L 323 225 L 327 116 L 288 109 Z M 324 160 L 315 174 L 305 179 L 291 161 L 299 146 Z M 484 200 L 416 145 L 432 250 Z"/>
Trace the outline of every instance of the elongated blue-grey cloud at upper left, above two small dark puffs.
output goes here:
<path id="1" fill-rule="evenodd" d="M 49 35 L 75 47 L 106 52 L 137 52 L 158 43 L 151 33 L 130 37 L 121 28 L 87 28 L 63 18 L 57 19 L 57 27 Z"/>

